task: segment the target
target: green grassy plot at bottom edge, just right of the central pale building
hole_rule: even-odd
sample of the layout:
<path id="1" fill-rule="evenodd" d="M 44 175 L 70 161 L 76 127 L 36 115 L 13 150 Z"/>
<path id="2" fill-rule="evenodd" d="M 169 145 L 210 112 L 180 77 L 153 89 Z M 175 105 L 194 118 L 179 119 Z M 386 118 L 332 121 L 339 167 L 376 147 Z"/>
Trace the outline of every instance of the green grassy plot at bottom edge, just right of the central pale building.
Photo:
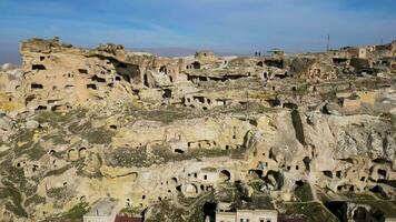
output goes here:
<path id="1" fill-rule="evenodd" d="M 286 214 L 303 214 L 308 222 L 339 222 L 339 220 L 331 212 L 329 212 L 321 203 L 318 202 L 286 203 L 285 209 Z"/>

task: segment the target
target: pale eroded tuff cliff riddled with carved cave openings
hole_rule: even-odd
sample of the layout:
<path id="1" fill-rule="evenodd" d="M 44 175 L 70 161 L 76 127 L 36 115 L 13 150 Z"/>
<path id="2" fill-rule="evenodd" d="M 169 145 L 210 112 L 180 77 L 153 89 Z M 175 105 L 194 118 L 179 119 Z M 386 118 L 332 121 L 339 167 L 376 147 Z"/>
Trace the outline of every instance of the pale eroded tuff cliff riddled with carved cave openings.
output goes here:
<path id="1" fill-rule="evenodd" d="M 22 42 L 22 67 L 0 72 L 0 218 L 81 219 L 108 198 L 148 221 L 256 195 L 308 218 L 290 202 L 392 209 L 395 61 L 362 50 L 174 59 Z"/>

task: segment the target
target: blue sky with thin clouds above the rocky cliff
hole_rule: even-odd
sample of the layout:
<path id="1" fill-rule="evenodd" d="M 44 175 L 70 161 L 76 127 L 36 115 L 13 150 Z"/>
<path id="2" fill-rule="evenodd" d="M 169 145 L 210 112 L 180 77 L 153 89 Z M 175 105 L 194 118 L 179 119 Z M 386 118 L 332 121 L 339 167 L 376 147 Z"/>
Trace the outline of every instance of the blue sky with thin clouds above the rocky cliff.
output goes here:
<path id="1" fill-rule="evenodd" d="M 0 0 L 0 63 L 18 42 L 59 36 L 81 47 L 289 52 L 389 42 L 395 0 Z"/>

